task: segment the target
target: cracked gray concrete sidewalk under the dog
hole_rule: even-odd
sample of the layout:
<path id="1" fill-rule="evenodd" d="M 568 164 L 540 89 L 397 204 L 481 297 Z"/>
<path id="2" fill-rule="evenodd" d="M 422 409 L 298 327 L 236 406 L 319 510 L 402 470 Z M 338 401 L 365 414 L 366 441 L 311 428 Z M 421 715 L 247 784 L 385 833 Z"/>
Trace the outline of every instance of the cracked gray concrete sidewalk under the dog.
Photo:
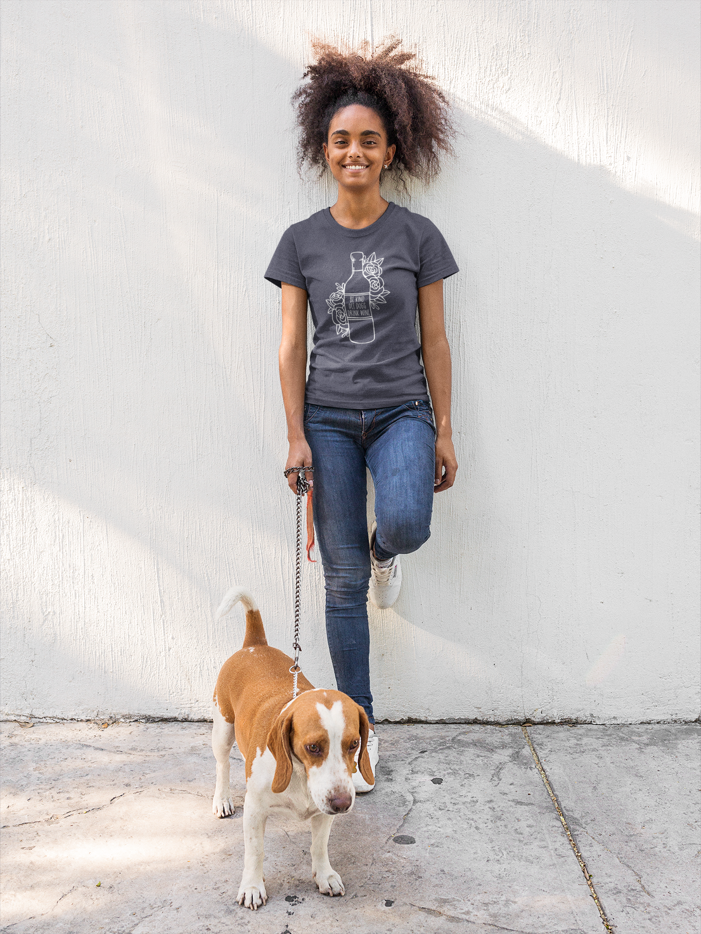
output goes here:
<path id="1" fill-rule="evenodd" d="M 380 726 L 378 785 L 331 832 L 346 896 L 319 894 L 308 828 L 275 817 L 267 906 L 241 909 L 243 763 L 233 752 L 236 814 L 217 820 L 209 732 L 4 723 L 2 930 L 606 930 L 519 727 Z M 697 934 L 698 726 L 527 733 L 611 929 Z"/>

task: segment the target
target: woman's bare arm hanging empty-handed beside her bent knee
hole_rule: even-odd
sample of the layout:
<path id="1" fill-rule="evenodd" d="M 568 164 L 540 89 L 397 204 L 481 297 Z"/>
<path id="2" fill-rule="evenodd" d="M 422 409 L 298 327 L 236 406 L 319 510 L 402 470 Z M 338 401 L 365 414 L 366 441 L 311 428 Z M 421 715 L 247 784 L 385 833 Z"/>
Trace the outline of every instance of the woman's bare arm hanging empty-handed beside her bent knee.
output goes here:
<path id="1" fill-rule="evenodd" d="M 458 461 L 452 446 L 451 347 L 443 319 L 443 279 L 419 290 L 419 322 L 422 329 L 423 369 L 436 417 L 436 479 L 434 491 L 442 493 L 455 482 Z M 443 471 L 445 470 L 445 474 Z"/>

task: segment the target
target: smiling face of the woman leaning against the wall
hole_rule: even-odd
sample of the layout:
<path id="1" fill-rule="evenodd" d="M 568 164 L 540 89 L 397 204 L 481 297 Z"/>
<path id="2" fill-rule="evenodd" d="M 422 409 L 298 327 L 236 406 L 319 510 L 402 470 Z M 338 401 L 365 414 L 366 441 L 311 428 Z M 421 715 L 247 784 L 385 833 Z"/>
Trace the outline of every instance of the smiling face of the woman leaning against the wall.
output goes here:
<path id="1" fill-rule="evenodd" d="M 395 147 L 388 146 L 384 123 L 370 107 L 352 104 L 331 120 L 323 154 L 336 181 L 352 191 L 379 185 L 382 166 L 391 163 Z"/>

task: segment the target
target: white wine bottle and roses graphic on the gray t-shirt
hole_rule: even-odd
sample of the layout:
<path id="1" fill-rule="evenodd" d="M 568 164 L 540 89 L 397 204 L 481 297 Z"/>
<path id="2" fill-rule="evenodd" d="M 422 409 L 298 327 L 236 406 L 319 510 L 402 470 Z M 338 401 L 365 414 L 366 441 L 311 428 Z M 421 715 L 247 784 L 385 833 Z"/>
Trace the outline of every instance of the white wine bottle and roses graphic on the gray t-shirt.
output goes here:
<path id="1" fill-rule="evenodd" d="M 369 344 L 375 340 L 373 309 L 386 304 L 382 281 L 382 263 L 375 254 L 365 256 L 363 250 L 350 254 L 350 278 L 339 284 L 336 291 L 326 299 L 329 314 L 336 325 L 336 334 L 348 337 L 353 344 Z"/>

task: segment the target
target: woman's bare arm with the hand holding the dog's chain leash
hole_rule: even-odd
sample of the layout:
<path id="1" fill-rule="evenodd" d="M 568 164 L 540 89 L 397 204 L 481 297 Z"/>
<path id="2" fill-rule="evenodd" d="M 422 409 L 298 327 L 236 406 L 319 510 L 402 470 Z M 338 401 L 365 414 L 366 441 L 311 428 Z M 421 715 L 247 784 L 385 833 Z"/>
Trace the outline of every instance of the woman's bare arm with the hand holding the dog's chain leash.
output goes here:
<path id="1" fill-rule="evenodd" d="M 287 282 L 282 283 L 282 338 L 279 345 L 279 383 L 287 417 L 287 440 L 290 452 L 288 467 L 311 467 L 311 450 L 304 428 L 305 383 L 307 380 L 307 292 Z M 313 486 L 312 474 L 307 474 Z M 297 474 L 287 478 L 290 489 L 297 491 Z"/>

